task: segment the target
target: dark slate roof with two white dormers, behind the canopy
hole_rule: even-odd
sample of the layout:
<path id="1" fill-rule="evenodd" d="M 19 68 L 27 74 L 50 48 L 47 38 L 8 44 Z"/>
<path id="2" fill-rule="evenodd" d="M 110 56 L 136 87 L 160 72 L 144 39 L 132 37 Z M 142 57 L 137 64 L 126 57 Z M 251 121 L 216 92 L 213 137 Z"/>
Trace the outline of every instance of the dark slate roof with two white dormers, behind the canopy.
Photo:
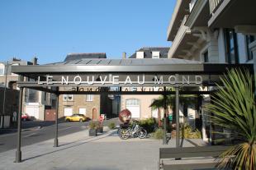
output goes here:
<path id="1" fill-rule="evenodd" d="M 169 48 L 167 47 L 144 47 L 136 52 L 144 52 L 145 58 L 152 58 L 152 52 L 160 52 L 160 58 L 168 58 L 168 50 Z M 129 58 L 136 58 L 136 53 L 132 54 Z"/>

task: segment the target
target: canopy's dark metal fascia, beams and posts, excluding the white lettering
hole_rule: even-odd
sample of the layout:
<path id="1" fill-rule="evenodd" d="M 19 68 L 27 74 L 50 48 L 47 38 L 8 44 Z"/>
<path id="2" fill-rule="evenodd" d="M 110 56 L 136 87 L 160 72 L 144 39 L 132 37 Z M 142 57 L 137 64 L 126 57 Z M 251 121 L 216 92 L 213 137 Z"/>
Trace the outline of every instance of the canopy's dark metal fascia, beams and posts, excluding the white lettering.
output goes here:
<path id="1" fill-rule="evenodd" d="M 168 94 L 176 95 L 176 123 L 177 123 L 177 140 L 176 147 L 179 148 L 179 94 L 211 94 L 212 91 L 180 91 L 182 84 L 173 85 L 175 91 L 59 91 L 59 86 L 54 90 L 54 88 L 48 88 L 50 85 L 31 85 L 30 83 L 24 83 L 24 76 L 29 79 L 35 79 L 37 76 L 47 75 L 47 74 L 78 74 L 78 73 L 147 73 L 152 76 L 155 74 L 168 73 L 187 73 L 189 75 L 222 75 L 225 73 L 226 69 L 232 67 L 247 67 L 250 71 L 254 71 L 254 66 L 252 64 L 242 64 L 242 65 L 227 65 L 227 64 L 170 64 L 170 65 L 140 65 L 140 66 L 76 66 L 76 65 L 62 65 L 62 66 L 15 66 L 12 67 L 12 72 L 20 75 L 20 81 L 17 85 L 20 87 L 20 101 L 19 101 L 19 113 L 18 113 L 18 126 L 17 126 L 17 153 L 16 153 L 16 163 L 21 162 L 21 111 L 22 111 L 22 95 L 24 88 L 29 88 L 33 90 L 41 90 L 51 94 L 56 94 L 57 96 L 57 107 L 59 106 L 59 94 L 163 94 L 166 98 Z M 28 80 L 29 80 L 28 79 Z M 206 82 L 206 85 L 212 86 L 211 82 Z M 170 85 L 171 86 L 171 85 Z M 59 108 L 59 107 L 58 107 Z M 55 147 L 59 146 L 58 142 L 58 108 L 55 113 Z M 166 144 L 166 109 L 164 110 L 164 139 L 163 143 Z"/>

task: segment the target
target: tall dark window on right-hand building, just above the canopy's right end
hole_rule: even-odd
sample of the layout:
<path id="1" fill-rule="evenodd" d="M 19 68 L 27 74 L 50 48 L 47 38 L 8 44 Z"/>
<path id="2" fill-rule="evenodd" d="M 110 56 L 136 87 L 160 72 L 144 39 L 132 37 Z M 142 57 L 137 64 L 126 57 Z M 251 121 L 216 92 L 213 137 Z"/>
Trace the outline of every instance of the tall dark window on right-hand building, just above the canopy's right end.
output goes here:
<path id="1" fill-rule="evenodd" d="M 237 34 L 234 29 L 225 29 L 225 53 L 226 62 L 230 64 L 239 63 Z"/>

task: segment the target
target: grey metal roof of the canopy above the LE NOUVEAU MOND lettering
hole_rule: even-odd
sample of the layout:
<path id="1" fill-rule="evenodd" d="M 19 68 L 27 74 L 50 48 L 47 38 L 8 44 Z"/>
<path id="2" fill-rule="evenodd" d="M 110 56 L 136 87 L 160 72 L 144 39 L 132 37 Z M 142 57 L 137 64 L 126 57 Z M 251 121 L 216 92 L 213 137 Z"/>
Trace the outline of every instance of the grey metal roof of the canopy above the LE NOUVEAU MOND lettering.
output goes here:
<path id="1" fill-rule="evenodd" d="M 253 64 L 220 64 L 220 63 L 203 63 L 195 62 L 191 60 L 184 60 L 178 58 L 172 59 L 78 59 L 67 62 L 56 62 L 46 65 L 36 66 L 14 66 L 12 72 L 24 76 L 36 76 L 40 74 L 78 74 L 80 73 L 121 73 L 121 72 L 153 72 L 157 74 L 159 72 L 166 73 L 189 73 L 197 74 L 201 72 L 206 73 L 223 73 L 227 68 L 231 67 L 250 67 L 253 68 Z M 252 69 L 253 70 L 253 69 Z"/>

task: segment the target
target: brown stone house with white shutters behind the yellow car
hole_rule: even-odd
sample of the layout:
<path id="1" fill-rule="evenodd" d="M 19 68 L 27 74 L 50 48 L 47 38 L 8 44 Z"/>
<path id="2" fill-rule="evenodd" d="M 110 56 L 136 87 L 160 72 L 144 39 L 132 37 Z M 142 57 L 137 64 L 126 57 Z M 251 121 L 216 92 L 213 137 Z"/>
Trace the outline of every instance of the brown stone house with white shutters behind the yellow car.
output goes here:
<path id="1" fill-rule="evenodd" d="M 107 55 L 106 53 L 70 53 L 64 62 L 77 62 L 79 59 L 88 59 L 89 62 L 93 62 L 93 59 L 97 58 L 107 58 Z M 97 120 L 100 114 L 111 117 L 112 100 L 104 94 L 59 95 L 59 117 L 71 116 L 74 113 L 83 114 L 92 120 Z"/>

